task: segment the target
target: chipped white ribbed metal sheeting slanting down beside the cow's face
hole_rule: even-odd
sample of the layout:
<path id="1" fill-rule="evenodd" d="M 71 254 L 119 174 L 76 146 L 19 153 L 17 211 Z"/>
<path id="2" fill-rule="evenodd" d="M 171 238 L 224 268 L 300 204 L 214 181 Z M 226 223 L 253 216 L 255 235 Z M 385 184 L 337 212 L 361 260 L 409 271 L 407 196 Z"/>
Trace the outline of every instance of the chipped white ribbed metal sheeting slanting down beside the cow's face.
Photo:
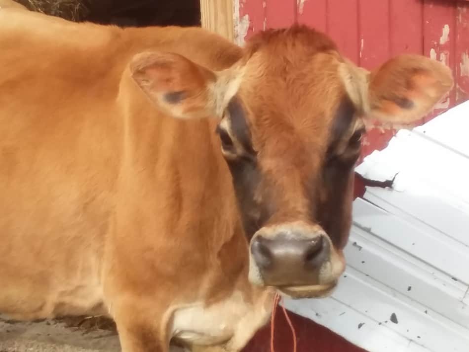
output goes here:
<path id="1" fill-rule="evenodd" d="M 469 352 L 468 130 L 469 101 L 367 156 L 359 174 L 396 177 L 354 201 L 337 291 L 286 306 L 370 352 Z"/>

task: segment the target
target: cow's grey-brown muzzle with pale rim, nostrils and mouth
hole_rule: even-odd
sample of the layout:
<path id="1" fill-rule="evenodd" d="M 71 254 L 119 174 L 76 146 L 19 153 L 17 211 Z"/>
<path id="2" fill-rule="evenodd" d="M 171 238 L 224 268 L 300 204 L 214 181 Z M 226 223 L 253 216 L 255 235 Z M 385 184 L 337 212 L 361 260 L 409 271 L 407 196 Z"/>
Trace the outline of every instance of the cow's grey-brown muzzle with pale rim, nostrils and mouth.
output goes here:
<path id="1" fill-rule="evenodd" d="M 251 239 L 249 279 L 292 297 L 327 295 L 343 272 L 329 237 L 318 226 L 263 228 Z M 340 267 L 340 268 L 338 268 Z"/>

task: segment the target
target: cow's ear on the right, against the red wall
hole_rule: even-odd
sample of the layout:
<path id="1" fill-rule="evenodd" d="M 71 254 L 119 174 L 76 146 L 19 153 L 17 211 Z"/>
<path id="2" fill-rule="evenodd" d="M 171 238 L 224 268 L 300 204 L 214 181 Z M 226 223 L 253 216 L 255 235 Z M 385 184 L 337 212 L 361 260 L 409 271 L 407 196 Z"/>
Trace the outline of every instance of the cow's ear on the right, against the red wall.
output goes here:
<path id="1" fill-rule="evenodd" d="M 420 55 L 399 55 L 368 72 L 341 63 L 345 88 L 364 117 L 406 124 L 424 117 L 453 87 L 451 70 Z"/>

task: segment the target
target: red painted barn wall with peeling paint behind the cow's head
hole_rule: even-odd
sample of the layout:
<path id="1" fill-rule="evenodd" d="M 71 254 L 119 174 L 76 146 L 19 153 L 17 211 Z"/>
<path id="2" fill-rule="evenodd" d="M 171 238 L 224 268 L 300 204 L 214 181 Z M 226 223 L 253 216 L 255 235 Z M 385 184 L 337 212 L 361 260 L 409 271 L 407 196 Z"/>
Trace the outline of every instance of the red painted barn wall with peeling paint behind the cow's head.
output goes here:
<path id="1" fill-rule="evenodd" d="M 444 62 L 453 70 L 455 88 L 422 122 L 469 98 L 468 1 L 236 0 L 235 4 L 239 42 L 262 29 L 300 22 L 328 33 L 345 55 L 367 69 L 401 53 Z M 369 131 L 362 155 L 385 147 L 394 133 Z"/>

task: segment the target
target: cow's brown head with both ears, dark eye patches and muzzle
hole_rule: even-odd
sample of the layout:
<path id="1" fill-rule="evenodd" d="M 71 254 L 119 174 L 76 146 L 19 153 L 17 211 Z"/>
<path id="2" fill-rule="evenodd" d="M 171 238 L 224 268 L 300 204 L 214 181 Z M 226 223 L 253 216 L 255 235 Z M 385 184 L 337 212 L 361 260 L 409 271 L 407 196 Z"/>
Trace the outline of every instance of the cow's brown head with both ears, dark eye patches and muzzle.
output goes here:
<path id="1" fill-rule="evenodd" d="M 345 269 L 364 119 L 417 120 L 453 84 L 446 66 L 415 55 L 368 72 L 302 26 L 258 34 L 222 72 L 171 53 L 138 55 L 131 71 L 170 115 L 219 118 L 249 279 L 293 297 L 329 293 Z"/>

